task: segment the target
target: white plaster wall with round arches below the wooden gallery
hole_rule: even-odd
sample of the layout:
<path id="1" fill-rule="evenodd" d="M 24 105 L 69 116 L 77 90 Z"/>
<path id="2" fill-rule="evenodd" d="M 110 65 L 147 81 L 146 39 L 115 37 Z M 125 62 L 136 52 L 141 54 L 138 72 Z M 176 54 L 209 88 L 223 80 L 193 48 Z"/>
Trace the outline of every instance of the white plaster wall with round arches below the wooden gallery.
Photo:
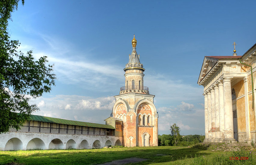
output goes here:
<path id="1" fill-rule="evenodd" d="M 110 143 L 114 146 L 117 140 L 122 141 L 122 137 L 115 136 L 17 131 L 9 131 L 6 134 L 0 134 L 0 139 L 0 150 L 67 149 L 70 147 L 75 149 L 92 149 L 93 145 L 98 148 L 103 148 Z"/>

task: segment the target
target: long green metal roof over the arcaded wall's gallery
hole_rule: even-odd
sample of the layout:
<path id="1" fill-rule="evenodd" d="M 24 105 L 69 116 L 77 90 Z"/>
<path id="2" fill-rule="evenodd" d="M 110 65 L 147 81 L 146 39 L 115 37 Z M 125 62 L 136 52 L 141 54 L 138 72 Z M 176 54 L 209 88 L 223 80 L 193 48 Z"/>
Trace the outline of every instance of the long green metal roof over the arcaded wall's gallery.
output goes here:
<path id="1" fill-rule="evenodd" d="M 65 125 L 76 125 L 76 126 L 83 126 L 83 127 L 115 129 L 111 125 L 80 122 L 80 121 L 66 120 L 66 119 L 58 119 L 58 118 L 38 116 L 38 115 L 30 115 L 30 120 L 33 120 L 33 121 L 36 121 L 36 122 L 47 122 L 47 123 L 56 123 L 56 124 L 65 124 Z"/>

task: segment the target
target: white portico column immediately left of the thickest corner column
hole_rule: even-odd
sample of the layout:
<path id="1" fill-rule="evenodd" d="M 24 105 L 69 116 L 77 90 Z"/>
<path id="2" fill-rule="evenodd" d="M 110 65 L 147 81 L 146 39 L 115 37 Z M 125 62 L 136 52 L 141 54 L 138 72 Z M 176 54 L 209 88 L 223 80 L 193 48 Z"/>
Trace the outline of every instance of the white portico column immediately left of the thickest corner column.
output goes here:
<path id="1" fill-rule="evenodd" d="M 225 138 L 225 123 L 224 123 L 224 91 L 223 83 L 218 81 L 219 86 L 219 112 L 220 112 L 220 139 Z"/>

